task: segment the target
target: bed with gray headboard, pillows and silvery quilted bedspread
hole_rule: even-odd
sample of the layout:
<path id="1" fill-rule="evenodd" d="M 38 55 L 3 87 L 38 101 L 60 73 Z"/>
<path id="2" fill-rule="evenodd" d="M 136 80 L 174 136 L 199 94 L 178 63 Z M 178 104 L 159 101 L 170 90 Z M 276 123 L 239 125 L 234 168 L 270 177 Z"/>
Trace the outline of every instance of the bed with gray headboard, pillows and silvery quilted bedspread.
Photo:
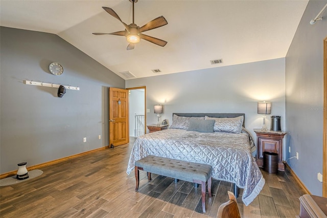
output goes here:
<path id="1" fill-rule="evenodd" d="M 212 177 L 243 188 L 247 206 L 265 184 L 252 157 L 252 137 L 244 128 L 244 114 L 174 113 L 169 129 L 140 136 L 129 158 L 127 173 L 135 161 L 148 155 L 212 165 Z"/>

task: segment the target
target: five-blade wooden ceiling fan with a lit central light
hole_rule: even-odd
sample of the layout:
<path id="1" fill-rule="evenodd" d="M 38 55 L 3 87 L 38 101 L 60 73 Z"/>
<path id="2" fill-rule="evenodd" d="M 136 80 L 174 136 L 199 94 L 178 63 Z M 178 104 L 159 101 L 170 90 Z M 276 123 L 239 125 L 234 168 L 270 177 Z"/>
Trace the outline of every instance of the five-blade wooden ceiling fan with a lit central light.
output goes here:
<path id="1" fill-rule="evenodd" d="M 133 3 L 133 23 L 130 25 L 125 24 L 121 18 L 114 12 L 111 8 L 102 7 L 106 12 L 108 12 L 111 16 L 121 21 L 121 23 L 124 25 L 125 30 L 113 32 L 113 33 L 92 33 L 94 35 L 119 35 L 119 36 L 125 36 L 127 38 L 127 41 L 129 42 L 129 45 L 127 46 L 127 50 L 134 49 L 135 43 L 139 42 L 139 39 L 144 39 L 147 41 L 150 41 L 158 46 L 166 46 L 167 41 L 148 36 L 143 34 L 143 32 L 152 30 L 158 27 L 162 27 L 168 24 L 166 18 L 164 16 L 159 16 L 150 22 L 148 22 L 146 25 L 139 27 L 136 24 L 134 24 L 134 3 L 137 3 L 138 0 L 129 0 L 131 3 Z"/>

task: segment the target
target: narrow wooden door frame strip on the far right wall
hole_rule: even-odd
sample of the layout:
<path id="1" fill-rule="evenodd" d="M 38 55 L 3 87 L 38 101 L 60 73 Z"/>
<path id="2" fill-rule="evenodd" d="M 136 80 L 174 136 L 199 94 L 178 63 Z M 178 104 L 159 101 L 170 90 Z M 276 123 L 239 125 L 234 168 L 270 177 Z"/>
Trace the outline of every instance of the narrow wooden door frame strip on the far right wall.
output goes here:
<path id="1" fill-rule="evenodd" d="M 323 40 L 322 196 L 327 197 L 327 37 Z"/>

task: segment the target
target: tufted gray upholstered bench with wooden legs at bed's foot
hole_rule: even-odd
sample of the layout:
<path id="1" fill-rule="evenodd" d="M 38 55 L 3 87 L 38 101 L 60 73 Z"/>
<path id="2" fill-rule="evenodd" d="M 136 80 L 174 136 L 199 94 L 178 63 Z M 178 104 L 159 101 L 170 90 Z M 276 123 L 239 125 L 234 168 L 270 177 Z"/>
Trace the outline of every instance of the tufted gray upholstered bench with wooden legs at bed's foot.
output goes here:
<path id="1" fill-rule="evenodd" d="M 151 172 L 174 178 L 175 180 L 183 180 L 187 182 L 194 182 L 201 184 L 202 192 L 202 210 L 205 213 L 205 188 L 206 182 L 208 183 L 209 197 L 211 195 L 211 183 L 212 183 L 212 166 L 207 164 L 192 163 L 187 161 L 179 161 L 169 158 L 162 158 L 157 156 L 147 156 L 135 162 L 135 179 L 136 188 L 138 190 L 139 183 L 139 169 L 148 172 L 148 180 L 151 180 Z"/>

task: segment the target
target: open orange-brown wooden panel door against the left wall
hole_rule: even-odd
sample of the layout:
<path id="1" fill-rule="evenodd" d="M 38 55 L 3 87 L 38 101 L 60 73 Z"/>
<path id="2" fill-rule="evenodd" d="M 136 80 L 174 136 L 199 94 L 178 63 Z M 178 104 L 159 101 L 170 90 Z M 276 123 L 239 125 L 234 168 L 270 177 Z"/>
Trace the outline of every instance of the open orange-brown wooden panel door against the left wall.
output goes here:
<path id="1" fill-rule="evenodd" d="M 128 90 L 109 88 L 109 145 L 129 142 Z"/>

